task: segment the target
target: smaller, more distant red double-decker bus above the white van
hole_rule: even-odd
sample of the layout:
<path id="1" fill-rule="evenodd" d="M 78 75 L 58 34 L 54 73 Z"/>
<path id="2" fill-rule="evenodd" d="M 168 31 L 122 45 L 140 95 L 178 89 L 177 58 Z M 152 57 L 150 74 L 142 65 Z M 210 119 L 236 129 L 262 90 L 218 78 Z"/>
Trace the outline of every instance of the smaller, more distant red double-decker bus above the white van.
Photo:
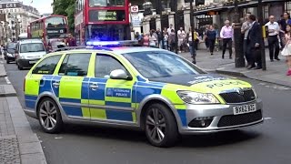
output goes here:
<path id="1" fill-rule="evenodd" d="M 45 16 L 27 26 L 28 38 L 42 38 L 46 47 L 50 39 L 67 36 L 68 31 L 67 18 L 64 15 Z"/>

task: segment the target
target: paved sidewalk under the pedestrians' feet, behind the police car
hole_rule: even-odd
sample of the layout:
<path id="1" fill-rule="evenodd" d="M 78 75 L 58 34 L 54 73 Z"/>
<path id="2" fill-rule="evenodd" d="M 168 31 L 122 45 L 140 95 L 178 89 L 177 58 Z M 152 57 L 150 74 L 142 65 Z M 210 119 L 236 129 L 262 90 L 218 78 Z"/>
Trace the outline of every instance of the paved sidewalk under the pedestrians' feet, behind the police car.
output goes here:
<path id="1" fill-rule="evenodd" d="M 233 59 L 228 59 L 228 52 L 226 51 L 226 59 L 222 59 L 222 52 L 215 52 L 214 56 L 210 56 L 206 50 L 198 50 L 196 52 L 196 65 L 206 69 L 206 71 L 216 71 L 220 74 L 230 76 L 248 77 L 268 83 L 274 83 L 286 87 L 291 87 L 291 77 L 286 76 L 285 57 L 279 56 L 281 61 L 270 62 L 268 59 L 268 51 L 266 50 L 266 71 L 248 70 L 246 67 L 235 67 L 235 56 Z M 192 58 L 189 53 L 182 53 L 181 56 L 186 57 L 190 61 Z"/>

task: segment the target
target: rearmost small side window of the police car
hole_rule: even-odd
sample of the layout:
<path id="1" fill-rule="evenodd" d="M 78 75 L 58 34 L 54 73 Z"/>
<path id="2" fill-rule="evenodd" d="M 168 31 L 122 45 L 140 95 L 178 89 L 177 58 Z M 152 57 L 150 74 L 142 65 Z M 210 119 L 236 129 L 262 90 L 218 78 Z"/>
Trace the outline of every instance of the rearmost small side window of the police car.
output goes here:
<path id="1" fill-rule="evenodd" d="M 33 74 L 52 75 L 60 58 L 61 55 L 46 57 L 35 67 Z"/>

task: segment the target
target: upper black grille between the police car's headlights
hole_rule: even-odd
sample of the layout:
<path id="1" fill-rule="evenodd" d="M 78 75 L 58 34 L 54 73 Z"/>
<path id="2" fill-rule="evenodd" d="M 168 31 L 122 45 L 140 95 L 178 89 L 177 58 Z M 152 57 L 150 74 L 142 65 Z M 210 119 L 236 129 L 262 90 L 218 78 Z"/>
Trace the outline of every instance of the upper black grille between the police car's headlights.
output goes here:
<path id="1" fill-rule="evenodd" d="M 243 103 L 256 99 L 255 93 L 252 89 L 244 90 L 244 94 L 239 94 L 237 92 L 222 93 L 219 94 L 220 97 L 224 98 L 226 103 Z"/>

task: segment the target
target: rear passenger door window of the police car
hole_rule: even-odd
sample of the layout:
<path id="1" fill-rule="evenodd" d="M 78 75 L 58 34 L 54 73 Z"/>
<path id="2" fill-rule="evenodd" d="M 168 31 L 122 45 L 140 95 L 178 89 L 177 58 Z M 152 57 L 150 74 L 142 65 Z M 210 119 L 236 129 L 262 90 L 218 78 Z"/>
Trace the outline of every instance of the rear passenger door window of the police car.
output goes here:
<path id="1" fill-rule="evenodd" d="M 91 54 L 68 54 L 58 72 L 60 76 L 85 77 Z"/>

